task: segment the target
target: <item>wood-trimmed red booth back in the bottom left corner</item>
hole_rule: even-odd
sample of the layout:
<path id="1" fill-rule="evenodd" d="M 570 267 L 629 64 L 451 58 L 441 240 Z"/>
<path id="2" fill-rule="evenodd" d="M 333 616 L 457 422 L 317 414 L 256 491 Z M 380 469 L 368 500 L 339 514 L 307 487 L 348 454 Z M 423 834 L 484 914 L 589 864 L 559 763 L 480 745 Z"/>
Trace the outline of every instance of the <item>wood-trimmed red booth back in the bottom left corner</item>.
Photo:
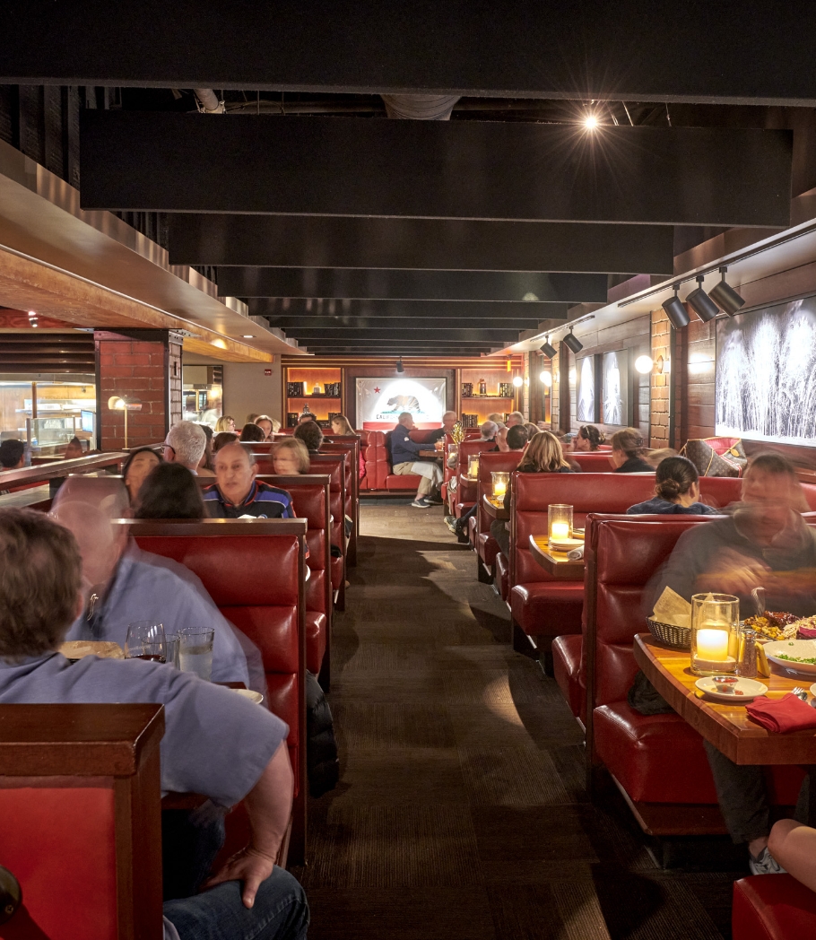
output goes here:
<path id="1" fill-rule="evenodd" d="M 162 935 L 161 705 L 0 705 L 4 940 Z"/>

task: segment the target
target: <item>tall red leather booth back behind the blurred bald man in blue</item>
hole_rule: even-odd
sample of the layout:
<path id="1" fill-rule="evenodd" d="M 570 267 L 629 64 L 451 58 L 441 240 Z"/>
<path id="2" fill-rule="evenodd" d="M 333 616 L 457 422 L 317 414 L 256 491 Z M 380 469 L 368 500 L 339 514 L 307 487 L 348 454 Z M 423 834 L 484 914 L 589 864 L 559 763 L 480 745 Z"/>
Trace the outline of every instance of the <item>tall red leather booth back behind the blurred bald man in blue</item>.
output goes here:
<path id="1" fill-rule="evenodd" d="M 290 728 L 290 853 L 299 864 L 306 854 L 306 520 L 129 519 L 117 525 L 146 552 L 196 574 L 221 613 L 259 648 L 267 704 Z"/>

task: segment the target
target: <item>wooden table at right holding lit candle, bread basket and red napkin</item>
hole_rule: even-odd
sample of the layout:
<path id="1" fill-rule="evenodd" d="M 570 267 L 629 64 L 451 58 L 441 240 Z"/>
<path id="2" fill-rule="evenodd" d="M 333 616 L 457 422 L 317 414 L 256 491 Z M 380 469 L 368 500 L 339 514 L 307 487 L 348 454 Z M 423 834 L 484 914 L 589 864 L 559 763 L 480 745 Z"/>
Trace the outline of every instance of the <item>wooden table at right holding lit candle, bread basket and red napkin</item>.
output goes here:
<path id="1" fill-rule="evenodd" d="M 816 764 L 816 730 L 777 734 L 754 724 L 744 705 L 698 698 L 694 684 L 698 676 L 691 671 L 688 652 L 669 650 L 651 634 L 638 634 L 635 659 L 675 712 L 734 763 Z M 806 689 L 811 685 L 808 676 L 790 679 L 775 670 L 777 666 L 772 663 L 770 678 L 757 677 L 758 682 L 768 686 L 769 698 L 781 698 L 795 685 Z"/>

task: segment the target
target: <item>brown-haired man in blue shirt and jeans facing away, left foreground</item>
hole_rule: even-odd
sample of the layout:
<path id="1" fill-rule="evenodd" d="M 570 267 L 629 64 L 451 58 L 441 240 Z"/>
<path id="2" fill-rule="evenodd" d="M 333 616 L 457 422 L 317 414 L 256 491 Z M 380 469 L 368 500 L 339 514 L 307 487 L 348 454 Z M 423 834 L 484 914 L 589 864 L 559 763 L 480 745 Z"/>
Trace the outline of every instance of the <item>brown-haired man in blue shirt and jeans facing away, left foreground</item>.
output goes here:
<path id="1" fill-rule="evenodd" d="M 172 666 L 96 656 L 71 665 L 56 650 L 85 608 L 82 585 L 69 529 L 29 509 L 0 510 L 0 703 L 164 705 L 162 790 L 202 793 L 219 807 L 243 800 L 252 830 L 208 890 L 165 901 L 165 940 L 302 940 L 303 888 L 275 866 L 291 812 L 287 726 Z"/>

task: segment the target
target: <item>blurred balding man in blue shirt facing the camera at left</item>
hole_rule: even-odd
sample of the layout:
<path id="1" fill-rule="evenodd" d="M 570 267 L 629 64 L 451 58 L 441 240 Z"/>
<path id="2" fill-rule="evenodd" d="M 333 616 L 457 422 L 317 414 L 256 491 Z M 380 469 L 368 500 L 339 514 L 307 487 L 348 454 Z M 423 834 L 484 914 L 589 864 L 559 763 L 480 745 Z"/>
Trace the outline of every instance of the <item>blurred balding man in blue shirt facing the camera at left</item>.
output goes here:
<path id="1" fill-rule="evenodd" d="M 71 532 L 83 560 L 85 605 L 66 638 L 124 648 L 136 620 L 162 623 L 167 634 L 212 629 L 212 681 L 249 685 L 242 645 L 200 582 L 186 570 L 181 577 L 168 559 L 142 552 L 123 528 L 112 525 L 127 511 L 124 496 L 106 496 L 100 505 L 77 491 L 81 484 L 73 493 L 70 481 L 63 484 L 49 513 Z"/>

